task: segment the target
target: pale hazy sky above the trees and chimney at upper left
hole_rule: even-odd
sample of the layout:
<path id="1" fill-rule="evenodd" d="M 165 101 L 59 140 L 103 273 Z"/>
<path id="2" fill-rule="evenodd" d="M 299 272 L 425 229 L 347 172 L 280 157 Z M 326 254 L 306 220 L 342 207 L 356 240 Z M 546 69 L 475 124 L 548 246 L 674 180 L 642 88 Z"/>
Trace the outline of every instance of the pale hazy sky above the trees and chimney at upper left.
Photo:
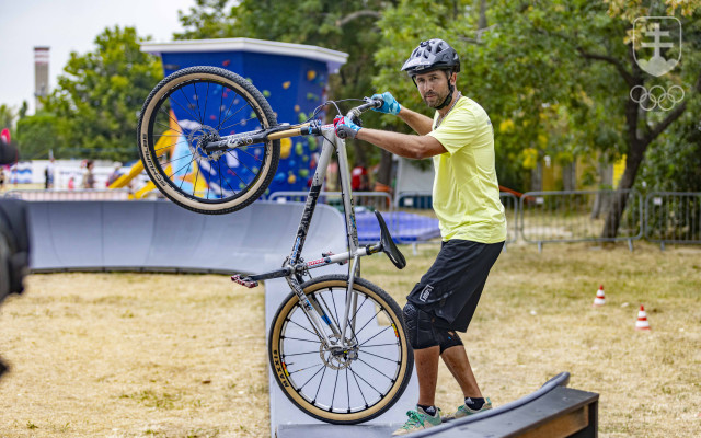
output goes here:
<path id="1" fill-rule="evenodd" d="M 50 47 L 49 84 L 71 51 L 93 51 L 105 27 L 136 27 L 140 37 L 156 42 L 182 32 L 177 11 L 189 11 L 195 0 L 0 0 L 0 105 L 19 110 L 23 101 L 34 114 L 34 47 Z"/>

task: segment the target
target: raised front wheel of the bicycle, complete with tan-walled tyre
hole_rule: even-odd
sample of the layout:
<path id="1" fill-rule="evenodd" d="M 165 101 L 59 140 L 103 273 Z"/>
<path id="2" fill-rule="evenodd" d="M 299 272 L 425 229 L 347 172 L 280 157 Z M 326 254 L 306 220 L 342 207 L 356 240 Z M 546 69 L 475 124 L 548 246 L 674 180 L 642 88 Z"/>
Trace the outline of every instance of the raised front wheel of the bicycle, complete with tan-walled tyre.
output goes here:
<path id="1" fill-rule="evenodd" d="M 277 170 L 280 145 L 266 141 L 205 151 L 207 141 L 277 125 L 248 80 L 216 67 L 189 67 L 163 79 L 146 100 L 139 154 L 159 191 L 203 214 L 239 210 L 261 197 Z"/>

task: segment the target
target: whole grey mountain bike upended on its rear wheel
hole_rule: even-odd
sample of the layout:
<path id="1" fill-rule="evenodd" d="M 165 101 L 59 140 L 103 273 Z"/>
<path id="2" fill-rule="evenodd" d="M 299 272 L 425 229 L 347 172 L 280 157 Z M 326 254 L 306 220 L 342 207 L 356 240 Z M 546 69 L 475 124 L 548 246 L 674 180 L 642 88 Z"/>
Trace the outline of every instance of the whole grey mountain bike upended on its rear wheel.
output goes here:
<path id="1" fill-rule="evenodd" d="M 348 116 L 359 120 L 364 111 L 381 104 L 365 99 Z M 279 269 L 235 274 L 231 279 L 256 287 L 265 279 L 286 278 L 291 292 L 278 308 L 268 336 L 273 374 L 285 395 L 312 417 L 358 424 L 389 410 L 405 390 L 413 369 L 402 311 L 386 291 L 359 276 L 359 260 L 383 252 L 400 269 L 406 262 L 377 211 L 380 241 L 358 244 L 345 142 L 335 136 L 333 125 L 313 118 L 318 111 L 302 124 L 278 125 L 266 99 L 242 77 L 215 67 L 191 67 L 163 79 L 146 100 L 137 129 L 139 153 L 164 196 L 194 211 L 223 214 L 246 207 L 265 192 L 277 169 L 281 139 L 323 137 L 290 255 Z M 159 129 L 170 134 L 160 135 Z M 168 140 L 173 138 L 164 136 L 185 138 L 189 154 L 169 160 L 165 152 L 173 145 Z M 347 251 L 306 262 L 300 254 L 334 149 Z M 188 159 L 185 164 L 184 159 Z M 222 165 L 240 181 L 238 191 L 222 178 Z M 173 171 L 175 166 L 179 171 Z M 185 166 L 197 171 L 216 166 L 219 172 L 198 172 L 194 184 L 184 185 L 181 171 Z M 207 180 L 206 192 L 198 189 L 200 173 Z M 311 269 L 336 263 L 347 264 L 348 273 L 304 280 L 311 277 Z"/>

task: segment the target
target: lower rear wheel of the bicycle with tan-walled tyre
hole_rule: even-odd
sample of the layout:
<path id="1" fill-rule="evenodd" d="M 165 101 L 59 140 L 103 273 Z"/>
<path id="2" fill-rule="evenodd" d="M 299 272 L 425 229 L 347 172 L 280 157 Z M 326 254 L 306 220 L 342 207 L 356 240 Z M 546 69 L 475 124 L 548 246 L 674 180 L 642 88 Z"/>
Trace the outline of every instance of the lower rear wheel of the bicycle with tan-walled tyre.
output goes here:
<path id="1" fill-rule="evenodd" d="M 321 309 L 326 335 L 340 343 L 330 327 L 341 326 L 345 316 L 348 277 L 321 276 L 301 286 Z M 406 389 L 414 366 L 397 302 L 361 278 L 355 278 L 353 290 L 357 301 L 348 311 L 346 342 L 355 347 L 325 348 L 295 293 L 271 326 L 268 354 L 277 383 L 297 407 L 326 423 L 358 424 L 382 414 Z"/>

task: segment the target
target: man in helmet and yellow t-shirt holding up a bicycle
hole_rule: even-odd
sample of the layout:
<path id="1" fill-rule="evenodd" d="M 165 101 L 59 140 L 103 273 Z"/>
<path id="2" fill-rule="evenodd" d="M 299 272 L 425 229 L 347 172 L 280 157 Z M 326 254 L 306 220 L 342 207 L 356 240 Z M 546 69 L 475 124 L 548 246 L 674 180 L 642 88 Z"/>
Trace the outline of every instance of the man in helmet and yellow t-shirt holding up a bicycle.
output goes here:
<path id="1" fill-rule="evenodd" d="M 418 377 L 416 411 L 393 435 L 441 423 L 435 406 L 438 358 L 459 383 L 464 404 L 449 418 L 492 408 L 476 383 L 460 336 L 474 314 L 490 269 L 506 239 L 494 165 L 494 132 L 484 110 L 456 90 L 460 59 L 443 39 L 421 43 L 402 71 L 412 78 L 434 118 L 401 106 L 389 93 L 376 94 L 377 111 L 398 115 L 418 135 L 360 128 L 345 117 L 334 120 L 336 134 L 374 143 L 411 159 L 433 157 L 436 176 L 433 206 L 443 243 L 433 266 L 406 297 L 404 323 L 414 348 Z"/>

